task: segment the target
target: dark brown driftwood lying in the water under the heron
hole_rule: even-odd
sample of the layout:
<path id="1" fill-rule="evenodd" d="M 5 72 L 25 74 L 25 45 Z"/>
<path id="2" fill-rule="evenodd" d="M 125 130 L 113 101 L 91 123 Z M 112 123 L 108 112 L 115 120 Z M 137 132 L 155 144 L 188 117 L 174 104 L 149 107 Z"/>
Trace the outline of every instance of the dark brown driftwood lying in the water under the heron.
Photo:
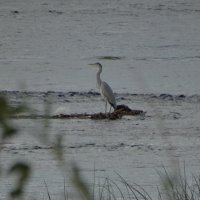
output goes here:
<path id="1" fill-rule="evenodd" d="M 95 120 L 100 120 L 100 119 L 116 120 L 116 119 L 121 119 L 122 116 L 124 116 L 124 115 L 132 115 L 132 116 L 141 115 L 141 116 L 144 116 L 145 112 L 142 111 L 142 110 L 132 110 L 126 105 L 118 105 L 117 108 L 115 109 L 115 111 L 112 112 L 112 113 L 59 114 L 59 115 L 52 116 L 52 118 L 53 119 L 78 118 L 78 119 L 95 119 Z"/>

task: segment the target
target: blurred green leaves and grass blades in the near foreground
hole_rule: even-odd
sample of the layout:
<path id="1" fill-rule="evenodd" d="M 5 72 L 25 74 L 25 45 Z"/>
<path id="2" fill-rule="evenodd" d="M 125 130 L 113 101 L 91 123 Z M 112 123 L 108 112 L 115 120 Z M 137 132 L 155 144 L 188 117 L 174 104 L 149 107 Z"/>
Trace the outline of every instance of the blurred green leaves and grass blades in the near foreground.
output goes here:
<path id="1" fill-rule="evenodd" d="M 45 115 L 49 114 L 49 106 L 46 105 Z M 20 132 L 14 127 L 11 123 L 11 118 L 14 115 L 29 112 L 32 113 L 31 109 L 24 103 L 18 106 L 11 106 L 9 101 L 1 96 L 0 97 L 0 153 L 2 151 L 2 145 L 6 143 L 7 139 L 12 139 L 14 136 L 20 135 Z M 43 121 L 44 129 L 42 133 L 38 135 L 38 140 L 48 145 L 50 143 L 48 137 L 48 126 L 49 121 L 48 118 Z M 64 151 L 62 146 L 62 136 L 57 135 L 54 146 L 53 153 L 56 160 L 61 164 L 60 170 L 64 173 L 67 170 L 72 171 L 71 179 L 74 189 L 79 194 L 79 199 L 82 200 L 125 200 L 125 199 L 133 199 L 133 200 L 153 200 L 152 197 L 137 184 L 128 183 L 120 174 L 116 174 L 118 177 L 118 182 L 113 181 L 109 178 L 105 178 L 103 183 L 95 183 L 95 174 L 94 174 L 94 183 L 92 186 L 89 186 L 88 183 L 84 181 L 83 176 L 80 174 L 79 167 L 76 163 L 67 165 L 64 158 Z M 52 143 L 51 143 L 52 145 Z M 184 167 L 183 167 L 184 168 Z M 6 171 L 5 171 L 6 170 Z M 95 171 L 95 170 L 94 170 Z M 17 181 L 13 184 L 14 189 L 12 189 L 9 193 L 9 199 L 27 199 L 24 194 L 26 190 L 26 186 L 29 181 L 29 177 L 32 174 L 31 164 L 27 162 L 17 161 L 7 169 L 3 169 L 0 164 L 0 175 L 8 174 L 8 176 L 12 176 L 13 174 L 17 175 Z M 158 186 L 158 190 L 155 191 L 159 200 L 167 199 L 167 200 L 199 200 L 200 199 L 200 176 L 193 176 L 192 181 L 188 180 L 185 173 L 185 168 L 183 172 L 179 169 L 178 173 L 169 174 L 165 168 L 163 168 L 163 172 L 158 172 L 161 179 L 161 184 Z M 3 183 L 1 183 L 3 184 Z M 44 182 L 48 199 L 53 199 L 50 195 L 50 191 L 48 190 L 48 183 Z M 62 199 L 71 199 L 69 195 L 65 192 L 66 186 L 64 184 L 64 195 Z M 1 191 L 0 191 L 1 193 Z M 74 198 L 72 198 L 74 199 Z"/>

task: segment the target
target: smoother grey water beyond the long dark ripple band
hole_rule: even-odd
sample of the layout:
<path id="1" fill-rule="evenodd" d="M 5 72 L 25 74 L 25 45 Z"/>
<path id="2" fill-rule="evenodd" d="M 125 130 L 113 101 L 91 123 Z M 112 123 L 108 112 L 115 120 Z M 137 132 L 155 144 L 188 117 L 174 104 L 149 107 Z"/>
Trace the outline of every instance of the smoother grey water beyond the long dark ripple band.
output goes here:
<path id="1" fill-rule="evenodd" d="M 30 6 L 31 5 L 31 6 Z M 1 1 L 0 90 L 199 94 L 199 1 Z"/>

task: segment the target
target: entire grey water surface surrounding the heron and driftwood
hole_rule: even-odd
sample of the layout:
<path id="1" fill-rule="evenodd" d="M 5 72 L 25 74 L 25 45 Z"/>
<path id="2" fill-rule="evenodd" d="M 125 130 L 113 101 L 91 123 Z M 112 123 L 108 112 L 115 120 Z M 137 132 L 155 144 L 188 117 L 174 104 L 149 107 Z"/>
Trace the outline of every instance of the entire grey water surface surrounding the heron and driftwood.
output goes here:
<path id="1" fill-rule="evenodd" d="M 42 114 L 104 111 L 97 69 L 118 104 L 146 112 L 117 121 L 51 120 L 50 137 L 62 134 L 65 157 L 92 184 L 115 172 L 154 197 L 155 169 L 186 163 L 199 171 L 200 2 L 197 0 L 2 0 L 0 94 L 12 105 L 29 102 Z M 51 145 L 37 140 L 42 119 L 13 119 L 20 137 L 2 144 L 1 165 L 34 161 L 27 199 L 61 198 L 63 175 Z M 48 169 L 48 170 L 47 170 Z M 4 176 L 4 175 L 3 175 Z M 13 187 L 2 177 L 1 199 Z M 67 187 L 71 183 L 66 175 Z M 98 181 L 98 180 L 97 180 Z M 62 199 L 62 198 L 61 198 Z"/>

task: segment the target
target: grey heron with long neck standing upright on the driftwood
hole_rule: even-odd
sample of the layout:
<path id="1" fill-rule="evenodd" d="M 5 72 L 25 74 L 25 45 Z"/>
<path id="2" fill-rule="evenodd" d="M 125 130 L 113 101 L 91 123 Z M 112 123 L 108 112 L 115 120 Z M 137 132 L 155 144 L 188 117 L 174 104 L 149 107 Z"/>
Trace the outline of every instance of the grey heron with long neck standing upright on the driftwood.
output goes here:
<path id="1" fill-rule="evenodd" d="M 115 110 L 117 108 L 117 104 L 116 104 L 116 100 L 115 100 L 115 96 L 113 94 L 113 91 L 111 89 L 111 87 L 105 82 L 101 80 L 100 74 L 102 72 L 102 65 L 100 63 L 94 63 L 94 64 L 90 64 L 92 66 L 97 66 L 99 68 L 99 71 L 97 72 L 97 88 L 99 89 L 101 96 L 104 98 L 105 100 L 105 113 L 107 111 L 107 102 L 110 104 L 110 106 L 113 107 L 113 109 Z M 110 111 L 111 111 L 111 107 L 110 107 Z"/>

